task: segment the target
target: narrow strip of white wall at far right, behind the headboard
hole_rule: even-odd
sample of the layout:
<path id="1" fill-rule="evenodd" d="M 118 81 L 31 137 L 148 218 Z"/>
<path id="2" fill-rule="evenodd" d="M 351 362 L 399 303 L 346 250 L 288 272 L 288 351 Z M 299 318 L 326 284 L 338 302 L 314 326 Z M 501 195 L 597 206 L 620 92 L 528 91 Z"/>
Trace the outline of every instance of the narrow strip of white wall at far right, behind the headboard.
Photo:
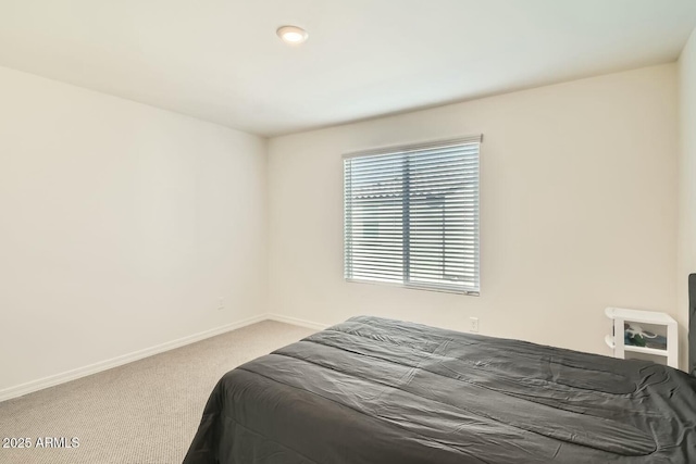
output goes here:
<path id="1" fill-rule="evenodd" d="M 696 30 L 679 60 L 679 249 L 678 308 L 686 352 L 688 274 L 696 273 Z M 686 356 L 683 367 L 686 368 Z"/>

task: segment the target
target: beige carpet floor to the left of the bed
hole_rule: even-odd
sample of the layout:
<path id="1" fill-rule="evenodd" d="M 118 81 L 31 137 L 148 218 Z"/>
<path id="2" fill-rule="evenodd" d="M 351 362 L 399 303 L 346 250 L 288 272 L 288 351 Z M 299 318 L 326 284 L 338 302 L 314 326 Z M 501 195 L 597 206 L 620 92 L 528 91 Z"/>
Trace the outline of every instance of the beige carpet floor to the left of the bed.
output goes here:
<path id="1" fill-rule="evenodd" d="M 28 437 L 0 463 L 181 463 L 227 371 L 314 330 L 264 321 L 67 384 L 0 402 L 0 439 Z M 88 349 L 88 348 L 86 348 Z M 36 448 L 73 437 L 77 448 Z"/>

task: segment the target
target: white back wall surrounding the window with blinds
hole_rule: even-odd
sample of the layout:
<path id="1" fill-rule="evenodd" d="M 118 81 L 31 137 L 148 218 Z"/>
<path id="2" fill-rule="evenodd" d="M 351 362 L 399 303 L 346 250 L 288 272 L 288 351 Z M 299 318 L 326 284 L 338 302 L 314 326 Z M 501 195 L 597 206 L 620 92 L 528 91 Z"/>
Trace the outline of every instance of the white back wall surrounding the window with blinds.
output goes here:
<path id="1" fill-rule="evenodd" d="M 605 306 L 676 311 L 676 124 L 667 64 L 271 139 L 270 311 L 609 354 Z M 341 154 L 480 133 L 481 297 L 345 283 Z"/>

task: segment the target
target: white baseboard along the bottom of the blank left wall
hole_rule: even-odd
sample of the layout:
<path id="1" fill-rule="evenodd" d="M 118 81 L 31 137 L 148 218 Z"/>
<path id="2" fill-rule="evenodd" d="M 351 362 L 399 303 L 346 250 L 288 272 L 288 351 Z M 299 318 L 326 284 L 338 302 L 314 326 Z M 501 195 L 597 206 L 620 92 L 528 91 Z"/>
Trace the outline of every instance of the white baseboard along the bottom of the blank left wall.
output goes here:
<path id="1" fill-rule="evenodd" d="M 224 334 L 231 330 L 235 330 L 237 328 L 256 324 L 266 318 L 272 318 L 272 317 L 270 317 L 270 315 L 261 314 L 258 316 L 246 318 L 244 321 L 226 324 L 224 326 L 216 327 L 210 330 L 204 330 L 204 331 L 189 335 L 187 337 L 183 337 L 176 340 L 167 341 L 165 343 L 157 344 L 154 347 L 146 348 L 144 350 L 134 351 L 133 353 L 112 358 L 107 361 L 101 361 L 95 364 L 90 364 L 84 367 L 78 367 L 76 369 L 67 371 L 61 374 L 44 377 L 38 380 L 28 381 L 26 384 L 17 385 L 16 387 L 5 388 L 3 390 L 0 390 L 0 401 L 5 401 L 11 398 L 22 397 L 24 394 L 32 393 L 33 391 L 42 390 L 48 387 L 53 387 L 59 384 L 64 384 L 66 381 L 75 380 L 80 377 L 96 374 L 98 372 L 107 371 L 123 364 L 132 363 L 134 361 L 138 361 L 147 356 L 151 356 L 153 354 L 159 354 L 164 351 L 173 350 L 175 348 L 184 347 L 186 344 L 190 344 L 196 341 L 203 340 L 206 338 L 214 337 L 220 334 Z M 274 321 L 279 321 L 279 319 L 274 319 Z M 295 323 L 289 321 L 281 321 L 281 322 L 288 322 L 288 324 L 301 325 L 299 322 L 295 322 Z"/>

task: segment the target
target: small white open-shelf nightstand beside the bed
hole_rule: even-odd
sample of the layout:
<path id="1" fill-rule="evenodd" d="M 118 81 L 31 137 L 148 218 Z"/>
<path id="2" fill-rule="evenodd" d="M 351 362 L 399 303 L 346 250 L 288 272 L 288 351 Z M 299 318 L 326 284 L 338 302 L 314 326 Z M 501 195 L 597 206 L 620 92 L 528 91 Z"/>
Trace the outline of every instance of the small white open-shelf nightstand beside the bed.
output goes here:
<path id="1" fill-rule="evenodd" d="M 607 317 L 613 319 L 613 336 L 608 335 L 605 341 L 613 350 L 613 356 L 624 359 L 625 352 L 651 354 L 667 358 L 667 365 L 679 368 L 679 330 L 676 321 L 669 314 L 654 311 L 625 310 L 622 308 L 607 308 Z M 667 349 L 660 350 L 647 347 L 634 347 L 623 342 L 623 324 L 649 324 L 651 326 L 664 326 L 667 331 Z"/>

